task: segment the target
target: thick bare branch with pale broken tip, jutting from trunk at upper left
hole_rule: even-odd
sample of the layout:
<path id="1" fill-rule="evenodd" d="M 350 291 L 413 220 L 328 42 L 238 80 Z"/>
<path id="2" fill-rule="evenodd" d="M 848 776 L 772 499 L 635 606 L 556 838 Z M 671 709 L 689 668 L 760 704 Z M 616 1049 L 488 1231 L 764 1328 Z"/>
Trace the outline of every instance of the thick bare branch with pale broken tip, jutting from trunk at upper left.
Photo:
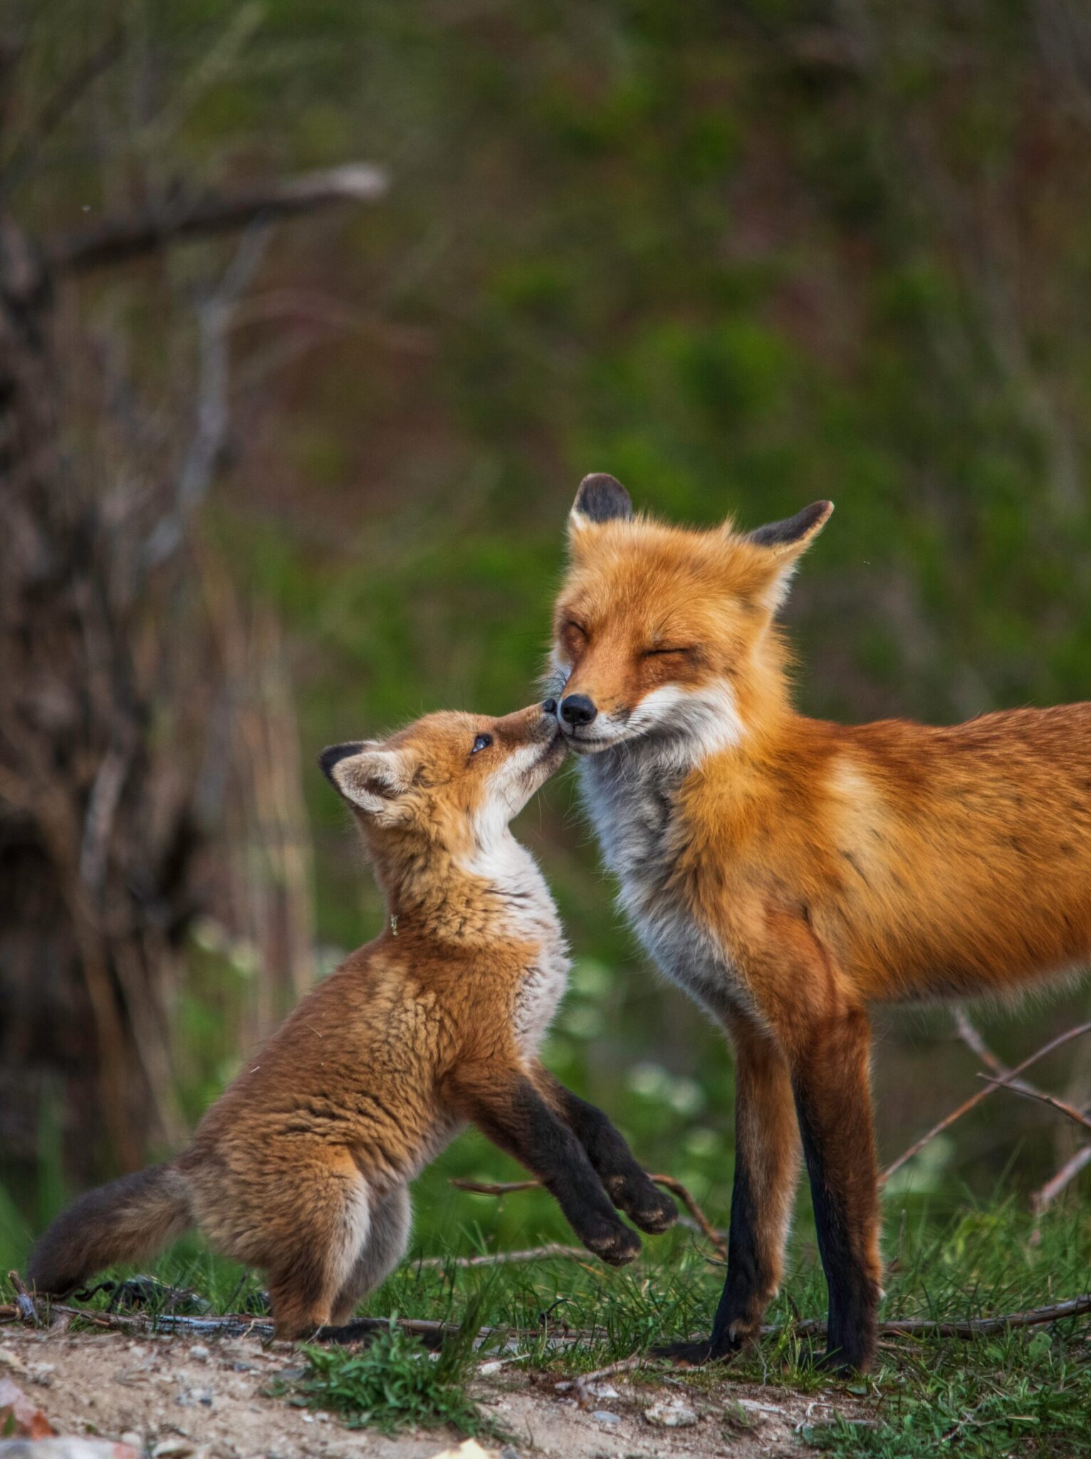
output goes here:
<path id="1" fill-rule="evenodd" d="M 270 182 L 239 193 L 207 193 L 168 209 L 108 219 L 45 244 L 57 273 L 80 274 L 125 263 L 185 238 L 232 232 L 255 220 L 273 222 L 343 203 L 375 203 L 387 193 L 387 174 L 368 162 Z"/>

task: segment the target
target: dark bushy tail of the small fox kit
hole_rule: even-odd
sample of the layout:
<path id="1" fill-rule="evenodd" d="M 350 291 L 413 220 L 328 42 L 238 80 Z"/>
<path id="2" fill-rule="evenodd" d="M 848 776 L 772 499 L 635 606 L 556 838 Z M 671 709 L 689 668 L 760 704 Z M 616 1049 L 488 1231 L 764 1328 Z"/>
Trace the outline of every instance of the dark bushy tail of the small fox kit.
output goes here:
<path id="1" fill-rule="evenodd" d="M 111 1262 L 153 1256 L 191 1226 L 185 1177 L 174 1166 L 149 1166 L 63 1211 L 31 1252 L 28 1277 L 61 1297 Z"/>

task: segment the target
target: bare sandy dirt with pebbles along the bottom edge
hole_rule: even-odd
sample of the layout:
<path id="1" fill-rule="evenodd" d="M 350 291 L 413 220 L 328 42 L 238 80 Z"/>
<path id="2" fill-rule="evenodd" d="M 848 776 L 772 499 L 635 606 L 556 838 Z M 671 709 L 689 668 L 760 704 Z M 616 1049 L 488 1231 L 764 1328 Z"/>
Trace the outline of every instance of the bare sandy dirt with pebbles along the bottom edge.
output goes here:
<path id="1" fill-rule="evenodd" d="M 0 1326 L 0 1379 L 18 1383 L 58 1434 L 124 1440 L 150 1459 L 432 1459 L 458 1443 L 445 1430 L 384 1439 L 268 1396 L 293 1361 L 289 1344 L 252 1338 L 193 1342 Z M 833 1390 L 793 1395 L 726 1379 L 699 1388 L 684 1374 L 649 1386 L 618 1376 L 592 1385 L 581 1405 L 559 1393 L 557 1382 L 557 1374 L 524 1374 L 518 1363 L 481 1366 L 474 1396 L 513 1436 L 503 1459 L 776 1459 L 798 1456 L 798 1425 L 828 1421 L 834 1404 L 846 1418 L 861 1417 Z"/>

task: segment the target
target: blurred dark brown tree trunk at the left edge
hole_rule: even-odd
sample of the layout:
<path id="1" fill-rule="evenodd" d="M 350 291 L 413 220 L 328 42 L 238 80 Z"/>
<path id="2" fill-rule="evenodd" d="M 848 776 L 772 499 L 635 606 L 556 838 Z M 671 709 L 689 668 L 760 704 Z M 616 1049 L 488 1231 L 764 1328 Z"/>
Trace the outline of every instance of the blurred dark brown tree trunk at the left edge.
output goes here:
<path id="1" fill-rule="evenodd" d="M 131 535 L 63 452 L 51 299 L 0 220 L 0 1142 L 34 1167 L 58 1104 L 86 1177 L 178 1135 L 168 1014 L 200 837 L 149 734 Z"/>

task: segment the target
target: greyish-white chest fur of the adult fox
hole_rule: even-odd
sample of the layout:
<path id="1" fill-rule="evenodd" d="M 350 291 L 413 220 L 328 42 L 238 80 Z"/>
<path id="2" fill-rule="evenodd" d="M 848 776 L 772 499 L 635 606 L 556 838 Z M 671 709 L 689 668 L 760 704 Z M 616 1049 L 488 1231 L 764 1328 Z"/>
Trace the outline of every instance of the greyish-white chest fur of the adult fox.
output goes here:
<path id="1" fill-rule="evenodd" d="M 688 767 L 633 740 L 585 756 L 581 783 L 618 900 L 661 972 L 710 1014 L 739 999 L 731 960 L 691 916 L 672 886 L 678 837 L 677 794 Z"/>

